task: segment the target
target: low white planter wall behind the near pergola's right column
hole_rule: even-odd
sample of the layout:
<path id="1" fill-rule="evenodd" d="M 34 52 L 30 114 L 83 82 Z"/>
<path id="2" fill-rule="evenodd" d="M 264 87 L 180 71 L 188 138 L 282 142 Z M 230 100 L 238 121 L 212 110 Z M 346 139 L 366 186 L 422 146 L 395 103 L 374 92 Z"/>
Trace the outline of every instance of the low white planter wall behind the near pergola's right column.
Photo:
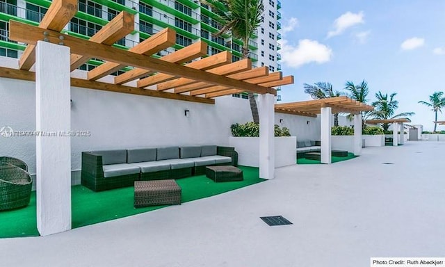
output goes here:
<path id="1" fill-rule="evenodd" d="M 238 152 L 238 164 L 259 167 L 259 137 L 229 137 L 229 145 Z M 297 138 L 275 137 L 275 168 L 297 162 Z"/>

